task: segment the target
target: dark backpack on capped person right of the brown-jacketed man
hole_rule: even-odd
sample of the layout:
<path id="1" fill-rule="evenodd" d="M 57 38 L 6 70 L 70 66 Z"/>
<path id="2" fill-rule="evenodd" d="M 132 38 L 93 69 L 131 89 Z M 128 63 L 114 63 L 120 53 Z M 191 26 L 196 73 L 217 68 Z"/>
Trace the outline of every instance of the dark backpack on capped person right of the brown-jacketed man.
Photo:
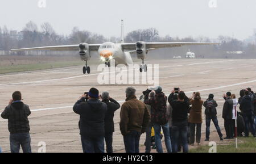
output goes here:
<path id="1" fill-rule="evenodd" d="M 152 110 L 151 121 L 164 125 L 168 123 L 169 113 L 167 112 L 165 96 L 156 96 L 156 106 Z"/>

